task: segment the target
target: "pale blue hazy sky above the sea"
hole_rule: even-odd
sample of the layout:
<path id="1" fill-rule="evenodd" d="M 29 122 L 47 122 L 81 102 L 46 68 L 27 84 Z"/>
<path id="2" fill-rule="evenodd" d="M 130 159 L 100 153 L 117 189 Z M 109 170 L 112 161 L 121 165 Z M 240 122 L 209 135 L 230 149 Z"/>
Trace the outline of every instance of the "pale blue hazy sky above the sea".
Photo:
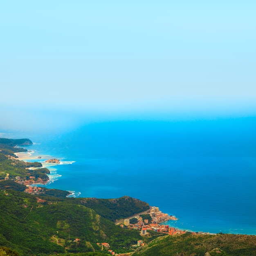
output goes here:
<path id="1" fill-rule="evenodd" d="M 0 128 L 256 115 L 255 1 L 0 5 Z"/>

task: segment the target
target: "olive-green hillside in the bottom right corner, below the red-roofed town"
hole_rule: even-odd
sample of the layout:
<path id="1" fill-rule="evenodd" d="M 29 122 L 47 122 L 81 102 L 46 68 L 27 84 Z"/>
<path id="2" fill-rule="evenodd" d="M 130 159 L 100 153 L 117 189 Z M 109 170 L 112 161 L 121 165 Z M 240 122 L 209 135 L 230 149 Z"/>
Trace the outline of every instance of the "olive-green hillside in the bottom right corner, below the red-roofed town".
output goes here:
<path id="1" fill-rule="evenodd" d="M 214 250 L 219 248 L 220 250 Z M 209 254 L 206 254 L 206 253 Z M 132 256 L 255 256 L 256 236 L 183 234 L 156 238 Z"/>

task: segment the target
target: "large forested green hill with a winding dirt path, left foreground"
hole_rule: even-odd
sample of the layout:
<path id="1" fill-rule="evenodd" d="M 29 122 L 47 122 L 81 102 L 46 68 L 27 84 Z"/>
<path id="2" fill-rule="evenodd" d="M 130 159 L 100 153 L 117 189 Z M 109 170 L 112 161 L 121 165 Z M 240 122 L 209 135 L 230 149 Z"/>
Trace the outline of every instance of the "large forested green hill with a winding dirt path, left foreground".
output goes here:
<path id="1" fill-rule="evenodd" d="M 0 191 L 0 246 L 27 256 L 55 252 L 100 252 L 102 247 L 97 243 L 105 242 L 116 252 L 126 252 L 141 239 L 139 231 L 116 226 L 93 209 L 79 204 L 79 200 L 13 190 Z M 104 209 L 109 215 L 120 212 L 116 216 L 125 218 L 128 217 L 125 209 L 130 211 L 132 201 L 136 200 L 128 198 L 127 205 L 111 203 L 111 208 L 105 205 Z M 96 204 L 95 208 L 99 208 L 100 204 Z"/>

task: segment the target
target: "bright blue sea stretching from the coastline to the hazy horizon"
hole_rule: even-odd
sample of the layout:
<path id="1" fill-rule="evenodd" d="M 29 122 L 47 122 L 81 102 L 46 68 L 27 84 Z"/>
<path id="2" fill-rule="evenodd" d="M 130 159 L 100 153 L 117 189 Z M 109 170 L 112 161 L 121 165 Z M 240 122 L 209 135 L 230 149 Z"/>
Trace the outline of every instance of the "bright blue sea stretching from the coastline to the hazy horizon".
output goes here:
<path id="1" fill-rule="evenodd" d="M 176 216 L 166 223 L 178 229 L 256 235 L 256 117 L 99 121 L 6 137 L 33 141 L 29 161 L 61 160 L 46 164 L 49 189 L 128 195 Z"/>

